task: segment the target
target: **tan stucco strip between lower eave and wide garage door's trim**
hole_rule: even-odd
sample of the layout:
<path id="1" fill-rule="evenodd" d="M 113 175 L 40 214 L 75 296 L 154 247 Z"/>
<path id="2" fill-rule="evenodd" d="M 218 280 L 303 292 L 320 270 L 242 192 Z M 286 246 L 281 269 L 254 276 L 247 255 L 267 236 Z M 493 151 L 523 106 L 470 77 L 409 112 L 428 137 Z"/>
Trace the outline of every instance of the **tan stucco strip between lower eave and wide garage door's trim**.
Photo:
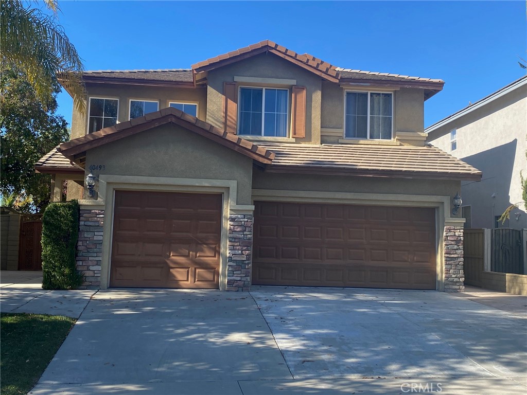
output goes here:
<path id="1" fill-rule="evenodd" d="M 454 196 L 459 181 L 348 177 L 253 171 L 253 189 Z M 449 214 L 450 216 L 450 214 Z"/>

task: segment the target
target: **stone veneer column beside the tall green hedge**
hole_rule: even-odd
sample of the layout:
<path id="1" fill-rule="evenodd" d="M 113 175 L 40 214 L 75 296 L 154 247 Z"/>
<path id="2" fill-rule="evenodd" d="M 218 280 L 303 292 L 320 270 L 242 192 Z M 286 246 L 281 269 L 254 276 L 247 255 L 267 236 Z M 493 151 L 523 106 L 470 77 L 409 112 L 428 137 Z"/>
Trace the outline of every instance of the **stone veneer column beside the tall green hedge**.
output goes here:
<path id="1" fill-rule="evenodd" d="M 79 289 L 101 288 L 104 210 L 82 210 L 77 242 L 77 270 L 84 276 Z"/>

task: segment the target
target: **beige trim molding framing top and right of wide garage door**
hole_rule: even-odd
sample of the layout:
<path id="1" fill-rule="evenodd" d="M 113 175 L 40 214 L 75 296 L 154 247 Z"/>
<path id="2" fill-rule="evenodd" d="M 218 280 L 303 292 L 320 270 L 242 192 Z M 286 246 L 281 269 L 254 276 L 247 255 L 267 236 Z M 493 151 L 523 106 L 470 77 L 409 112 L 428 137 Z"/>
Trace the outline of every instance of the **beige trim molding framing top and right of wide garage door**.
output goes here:
<path id="1" fill-rule="evenodd" d="M 461 226 L 464 219 L 450 218 L 450 196 L 442 195 L 404 195 L 382 193 L 350 193 L 350 192 L 313 192 L 253 189 L 252 201 L 275 201 L 294 203 L 326 203 L 326 204 L 364 204 L 436 208 L 436 289 L 444 291 L 445 261 L 443 251 L 443 233 L 445 225 L 455 223 Z"/>

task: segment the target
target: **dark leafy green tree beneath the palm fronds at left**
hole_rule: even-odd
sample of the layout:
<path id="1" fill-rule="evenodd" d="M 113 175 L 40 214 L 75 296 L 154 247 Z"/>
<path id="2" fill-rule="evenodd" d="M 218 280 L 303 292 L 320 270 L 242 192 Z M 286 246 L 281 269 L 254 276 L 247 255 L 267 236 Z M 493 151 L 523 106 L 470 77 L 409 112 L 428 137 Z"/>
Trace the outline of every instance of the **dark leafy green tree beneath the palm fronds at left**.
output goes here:
<path id="1" fill-rule="evenodd" d="M 31 199 L 19 211 L 42 212 L 50 202 L 51 176 L 35 173 L 35 163 L 69 139 L 64 117 L 55 113 L 60 85 L 53 84 L 46 110 L 23 73 L 0 73 L 0 193 L 14 194 L 18 201 Z"/>

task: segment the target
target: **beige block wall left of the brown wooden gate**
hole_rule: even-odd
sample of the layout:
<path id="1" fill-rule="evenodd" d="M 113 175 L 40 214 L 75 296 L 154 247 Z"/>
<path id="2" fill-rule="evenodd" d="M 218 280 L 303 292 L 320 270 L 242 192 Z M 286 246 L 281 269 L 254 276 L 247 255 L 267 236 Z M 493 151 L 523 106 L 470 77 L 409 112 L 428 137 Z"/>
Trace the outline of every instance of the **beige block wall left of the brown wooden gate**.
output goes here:
<path id="1" fill-rule="evenodd" d="M 0 269 L 18 270 L 21 216 L 2 208 L 0 213 Z"/>

